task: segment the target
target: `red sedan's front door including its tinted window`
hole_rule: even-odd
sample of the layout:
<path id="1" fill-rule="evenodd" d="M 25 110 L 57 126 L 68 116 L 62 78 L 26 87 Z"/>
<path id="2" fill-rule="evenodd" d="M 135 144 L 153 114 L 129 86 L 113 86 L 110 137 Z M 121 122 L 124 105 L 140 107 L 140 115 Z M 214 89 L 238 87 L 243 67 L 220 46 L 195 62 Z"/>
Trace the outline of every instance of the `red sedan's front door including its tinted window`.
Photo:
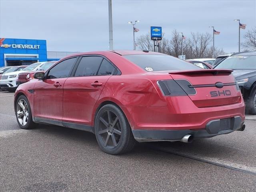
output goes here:
<path id="1" fill-rule="evenodd" d="M 36 121 L 55 120 L 61 123 L 63 116 L 63 85 L 77 57 L 56 64 L 34 86 L 34 117 Z"/>

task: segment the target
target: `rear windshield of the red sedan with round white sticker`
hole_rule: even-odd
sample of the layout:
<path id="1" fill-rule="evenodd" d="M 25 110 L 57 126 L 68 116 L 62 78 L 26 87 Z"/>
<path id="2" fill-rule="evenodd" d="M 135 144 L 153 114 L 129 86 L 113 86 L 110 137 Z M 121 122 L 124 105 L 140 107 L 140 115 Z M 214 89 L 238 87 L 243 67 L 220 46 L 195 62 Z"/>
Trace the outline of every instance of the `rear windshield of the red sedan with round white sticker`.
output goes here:
<path id="1" fill-rule="evenodd" d="M 170 70 L 201 70 L 202 68 L 192 63 L 183 61 L 169 55 L 158 54 L 138 54 L 124 55 L 124 58 L 130 60 L 145 71 L 170 71 Z"/>

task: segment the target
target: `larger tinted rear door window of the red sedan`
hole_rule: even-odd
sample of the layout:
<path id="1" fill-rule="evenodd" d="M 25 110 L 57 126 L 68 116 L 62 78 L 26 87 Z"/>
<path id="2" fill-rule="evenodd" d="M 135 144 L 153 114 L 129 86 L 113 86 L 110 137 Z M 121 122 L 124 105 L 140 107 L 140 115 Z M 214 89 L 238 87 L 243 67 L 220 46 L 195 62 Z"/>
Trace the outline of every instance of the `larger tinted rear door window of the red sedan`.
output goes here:
<path id="1" fill-rule="evenodd" d="M 98 56 L 82 57 L 74 76 L 95 76 L 98 72 L 102 59 L 102 57 Z"/>

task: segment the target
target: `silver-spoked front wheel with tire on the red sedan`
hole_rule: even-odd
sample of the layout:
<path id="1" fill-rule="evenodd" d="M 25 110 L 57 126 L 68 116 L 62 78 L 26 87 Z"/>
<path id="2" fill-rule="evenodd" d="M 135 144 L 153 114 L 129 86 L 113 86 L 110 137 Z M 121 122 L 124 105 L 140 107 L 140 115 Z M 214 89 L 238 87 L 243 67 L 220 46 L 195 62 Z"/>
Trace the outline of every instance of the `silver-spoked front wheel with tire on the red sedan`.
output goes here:
<path id="1" fill-rule="evenodd" d="M 19 96 L 16 101 L 15 116 L 20 128 L 22 129 L 32 129 L 37 125 L 32 120 L 30 104 L 24 95 Z"/>

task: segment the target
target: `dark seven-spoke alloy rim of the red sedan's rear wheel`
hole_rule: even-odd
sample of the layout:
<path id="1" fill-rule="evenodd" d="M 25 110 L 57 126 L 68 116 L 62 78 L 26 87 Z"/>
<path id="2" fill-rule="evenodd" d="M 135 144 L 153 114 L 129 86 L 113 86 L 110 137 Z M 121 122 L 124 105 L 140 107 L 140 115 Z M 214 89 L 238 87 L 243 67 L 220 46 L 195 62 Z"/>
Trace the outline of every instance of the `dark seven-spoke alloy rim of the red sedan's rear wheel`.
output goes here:
<path id="1" fill-rule="evenodd" d="M 104 111 L 99 118 L 98 135 L 102 144 L 108 149 L 118 146 L 121 138 L 121 126 L 118 116 L 110 111 Z"/>

